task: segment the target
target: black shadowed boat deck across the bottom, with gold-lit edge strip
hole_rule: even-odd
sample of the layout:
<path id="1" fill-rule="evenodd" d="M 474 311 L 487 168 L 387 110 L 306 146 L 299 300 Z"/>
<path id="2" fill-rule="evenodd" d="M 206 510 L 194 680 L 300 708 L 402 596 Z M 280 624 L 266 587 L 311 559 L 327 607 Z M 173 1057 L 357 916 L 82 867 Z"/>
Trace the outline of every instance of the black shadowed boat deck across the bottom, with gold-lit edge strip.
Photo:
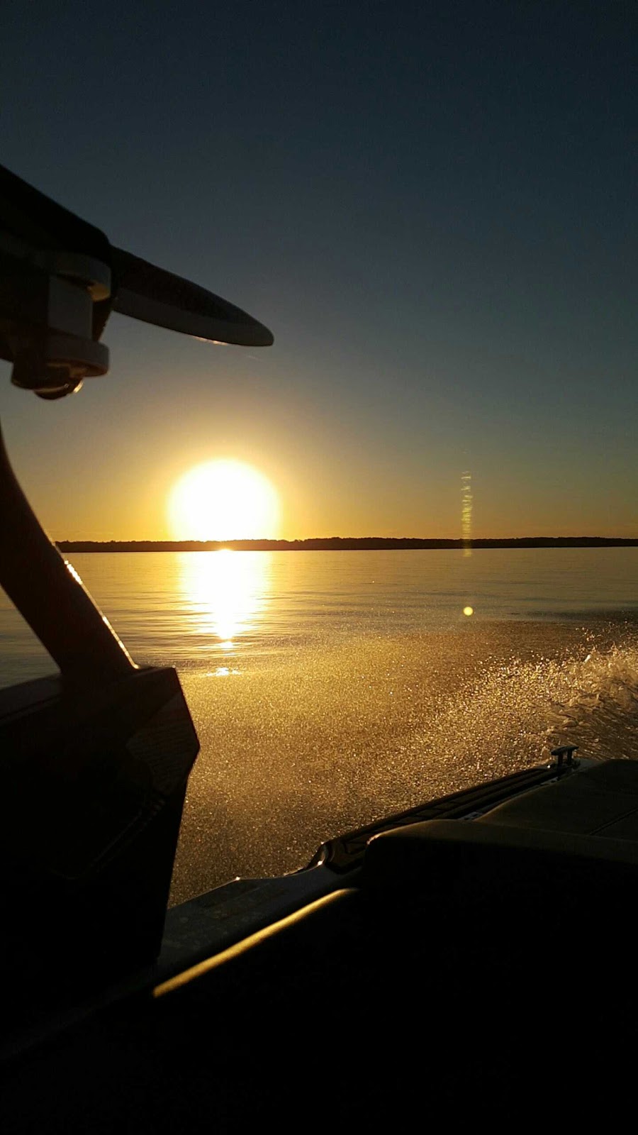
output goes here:
<path id="1" fill-rule="evenodd" d="M 514 1117 L 577 1053 L 571 1115 L 603 1107 L 636 1032 L 637 815 L 638 764 L 612 762 L 379 834 L 353 885 L 11 1061 L 11 1129 L 378 1129 L 425 1099 Z"/>

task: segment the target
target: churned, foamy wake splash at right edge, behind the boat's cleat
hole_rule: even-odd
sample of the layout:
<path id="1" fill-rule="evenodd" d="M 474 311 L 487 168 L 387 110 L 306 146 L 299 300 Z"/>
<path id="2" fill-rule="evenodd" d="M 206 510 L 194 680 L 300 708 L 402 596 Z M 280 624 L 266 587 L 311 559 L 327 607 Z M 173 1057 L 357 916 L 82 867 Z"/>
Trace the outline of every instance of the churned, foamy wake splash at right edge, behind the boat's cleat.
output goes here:
<path id="1" fill-rule="evenodd" d="M 638 636 L 588 630 L 581 650 L 482 667 L 414 738 L 427 780 L 442 791 L 549 759 L 638 759 Z M 622 640 L 620 640 L 622 638 Z M 578 656 L 580 654 L 580 657 Z"/>

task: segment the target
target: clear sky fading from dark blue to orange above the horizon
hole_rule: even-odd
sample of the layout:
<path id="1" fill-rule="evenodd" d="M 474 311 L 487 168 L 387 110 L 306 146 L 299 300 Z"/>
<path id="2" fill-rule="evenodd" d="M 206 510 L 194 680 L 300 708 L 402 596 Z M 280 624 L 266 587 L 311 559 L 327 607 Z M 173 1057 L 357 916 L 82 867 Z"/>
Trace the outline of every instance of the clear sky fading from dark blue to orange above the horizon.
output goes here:
<path id="1" fill-rule="evenodd" d="M 114 313 L 52 403 L 0 362 L 50 535 L 170 538 L 225 460 L 265 536 L 460 537 L 468 485 L 476 537 L 638 536 L 637 33 L 623 0 L 5 0 L 0 160 L 275 335 Z"/>

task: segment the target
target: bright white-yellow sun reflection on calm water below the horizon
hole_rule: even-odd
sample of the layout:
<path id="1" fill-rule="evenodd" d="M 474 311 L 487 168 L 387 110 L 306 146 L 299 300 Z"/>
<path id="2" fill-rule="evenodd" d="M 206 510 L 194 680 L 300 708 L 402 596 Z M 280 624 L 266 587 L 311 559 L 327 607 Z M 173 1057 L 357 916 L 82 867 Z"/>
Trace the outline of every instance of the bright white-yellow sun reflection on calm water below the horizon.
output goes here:
<path id="1" fill-rule="evenodd" d="M 270 555 L 267 552 L 185 553 L 182 590 L 191 633 L 208 641 L 204 649 L 233 654 L 263 619 L 269 603 Z M 216 675 L 237 671 L 218 667 Z"/>

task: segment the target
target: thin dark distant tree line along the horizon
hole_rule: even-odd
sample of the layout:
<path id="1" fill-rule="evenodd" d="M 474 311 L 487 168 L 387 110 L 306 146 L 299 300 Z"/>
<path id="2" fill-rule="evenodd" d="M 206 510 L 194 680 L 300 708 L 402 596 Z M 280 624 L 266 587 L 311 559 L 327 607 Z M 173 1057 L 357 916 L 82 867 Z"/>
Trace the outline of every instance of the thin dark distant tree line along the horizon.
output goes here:
<path id="1" fill-rule="evenodd" d="M 60 552 L 370 552 L 442 548 L 618 548 L 637 539 L 606 536 L 523 536 L 507 540 L 421 540 L 386 536 L 329 536 L 310 540 L 58 540 Z"/>

